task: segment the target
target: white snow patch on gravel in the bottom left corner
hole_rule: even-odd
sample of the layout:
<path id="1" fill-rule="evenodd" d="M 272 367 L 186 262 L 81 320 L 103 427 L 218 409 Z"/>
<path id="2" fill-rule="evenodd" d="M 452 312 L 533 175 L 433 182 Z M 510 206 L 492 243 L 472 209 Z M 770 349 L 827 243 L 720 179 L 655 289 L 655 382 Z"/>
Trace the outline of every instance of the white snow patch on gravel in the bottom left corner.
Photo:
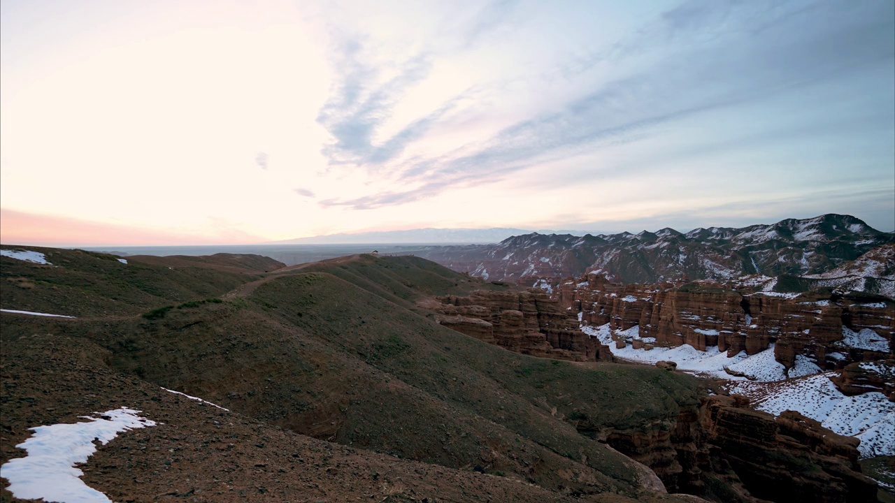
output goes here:
<path id="1" fill-rule="evenodd" d="M 0 467 L 9 482 L 13 496 L 21 499 L 45 499 L 65 503 L 111 503 L 102 492 L 91 489 L 80 477 L 84 473 L 75 465 L 85 463 L 97 447 L 115 439 L 121 431 L 155 426 L 135 411 L 122 407 L 100 414 L 81 416 L 90 421 L 74 424 L 53 424 L 31 428 L 30 439 L 15 446 L 28 451 L 28 456 L 9 460 Z"/>

